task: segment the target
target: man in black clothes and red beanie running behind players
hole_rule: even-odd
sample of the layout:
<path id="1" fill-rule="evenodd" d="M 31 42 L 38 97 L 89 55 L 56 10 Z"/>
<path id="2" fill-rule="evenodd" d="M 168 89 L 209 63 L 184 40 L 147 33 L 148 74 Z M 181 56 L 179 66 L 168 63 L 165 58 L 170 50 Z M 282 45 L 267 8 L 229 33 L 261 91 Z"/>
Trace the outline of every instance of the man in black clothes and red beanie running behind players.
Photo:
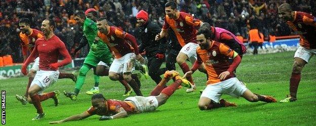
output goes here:
<path id="1" fill-rule="evenodd" d="M 147 12 L 141 10 L 136 15 L 137 23 L 139 24 L 138 34 L 141 41 L 139 51 L 146 51 L 148 59 L 148 73 L 152 80 L 158 84 L 161 81 L 160 75 L 164 74 L 166 68 L 160 68 L 165 61 L 166 39 L 155 40 L 155 35 L 159 34 L 161 27 L 156 23 L 148 20 Z"/>

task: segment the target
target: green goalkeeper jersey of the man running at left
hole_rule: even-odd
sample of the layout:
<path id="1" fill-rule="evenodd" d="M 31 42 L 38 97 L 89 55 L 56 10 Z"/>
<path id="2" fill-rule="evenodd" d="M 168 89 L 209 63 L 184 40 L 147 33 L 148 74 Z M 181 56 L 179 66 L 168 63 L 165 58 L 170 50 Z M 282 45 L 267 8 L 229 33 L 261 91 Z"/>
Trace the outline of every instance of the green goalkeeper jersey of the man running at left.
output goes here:
<path id="1" fill-rule="evenodd" d="M 97 41 L 97 43 L 94 42 L 94 40 L 98 34 L 98 28 L 97 28 L 97 24 L 93 20 L 86 18 L 84 25 L 83 25 L 83 32 L 84 32 L 84 35 L 88 39 L 91 53 L 93 53 L 96 56 L 101 56 L 104 53 L 110 53 L 108 47 L 101 39 L 99 39 Z M 97 45 L 96 50 L 92 50 L 93 44 Z"/>

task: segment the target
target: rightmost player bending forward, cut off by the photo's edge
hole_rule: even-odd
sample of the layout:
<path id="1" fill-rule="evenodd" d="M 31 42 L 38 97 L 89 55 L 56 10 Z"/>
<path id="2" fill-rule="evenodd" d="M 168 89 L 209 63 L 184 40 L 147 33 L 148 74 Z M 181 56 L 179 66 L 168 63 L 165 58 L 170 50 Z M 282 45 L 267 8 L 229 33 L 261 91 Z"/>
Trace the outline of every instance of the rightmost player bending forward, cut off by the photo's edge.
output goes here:
<path id="1" fill-rule="evenodd" d="M 294 64 L 290 78 L 290 95 L 280 102 L 294 102 L 301 71 L 308 60 L 316 55 L 316 17 L 305 12 L 292 11 L 289 4 L 282 4 L 279 7 L 279 16 L 294 30 L 300 34 L 300 47 L 294 55 Z"/>

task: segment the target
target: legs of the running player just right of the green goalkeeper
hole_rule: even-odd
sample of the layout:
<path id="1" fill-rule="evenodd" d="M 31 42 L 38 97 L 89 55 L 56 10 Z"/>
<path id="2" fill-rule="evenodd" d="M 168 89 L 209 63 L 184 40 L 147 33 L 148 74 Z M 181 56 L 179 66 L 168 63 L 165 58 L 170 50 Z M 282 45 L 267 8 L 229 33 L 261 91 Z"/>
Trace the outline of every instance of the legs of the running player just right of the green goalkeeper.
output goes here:
<path id="1" fill-rule="evenodd" d="M 128 73 L 130 73 L 130 72 L 128 72 Z M 132 76 L 131 76 L 131 73 L 130 74 L 124 74 L 123 76 L 122 75 L 120 75 L 119 73 L 115 73 L 115 72 L 109 72 L 109 78 L 111 79 L 111 80 L 114 80 L 114 81 L 116 81 L 116 80 L 126 80 L 126 79 L 128 79 L 128 80 L 126 80 L 129 84 L 130 84 L 130 86 L 133 88 L 133 90 L 134 90 L 134 92 L 136 93 L 136 95 L 137 96 L 142 96 L 142 94 L 141 94 L 141 92 L 140 92 L 140 90 L 139 90 L 139 87 L 138 87 L 138 85 L 137 85 L 137 83 L 136 83 L 136 81 L 132 78 Z"/>

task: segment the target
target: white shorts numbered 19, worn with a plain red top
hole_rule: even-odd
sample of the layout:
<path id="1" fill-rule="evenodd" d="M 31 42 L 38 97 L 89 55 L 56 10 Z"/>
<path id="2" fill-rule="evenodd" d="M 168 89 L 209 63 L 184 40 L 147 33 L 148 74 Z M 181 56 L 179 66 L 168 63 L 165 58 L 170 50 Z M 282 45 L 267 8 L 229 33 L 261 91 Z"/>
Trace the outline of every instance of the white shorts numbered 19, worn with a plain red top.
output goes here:
<path id="1" fill-rule="evenodd" d="M 38 70 L 35 74 L 35 77 L 31 83 L 32 87 L 33 85 L 37 85 L 41 87 L 41 91 L 38 92 L 39 95 L 42 94 L 42 92 L 47 89 L 50 85 L 53 85 L 54 82 L 57 81 L 59 76 L 59 71 L 44 71 L 44 70 Z"/>

